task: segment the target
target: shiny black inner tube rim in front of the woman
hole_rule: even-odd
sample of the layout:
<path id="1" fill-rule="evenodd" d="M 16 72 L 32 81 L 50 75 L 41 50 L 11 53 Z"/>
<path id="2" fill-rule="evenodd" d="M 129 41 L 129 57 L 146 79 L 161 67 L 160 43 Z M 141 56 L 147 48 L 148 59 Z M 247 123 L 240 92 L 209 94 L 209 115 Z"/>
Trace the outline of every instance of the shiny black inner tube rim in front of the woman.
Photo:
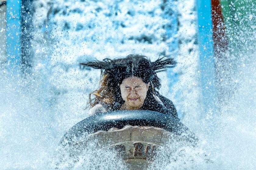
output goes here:
<path id="1" fill-rule="evenodd" d="M 150 110 L 118 110 L 87 117 L 67 131 L 60 143 L 72 141 L 73 138 L 84 134 L 108 131 L 112 127 L 121 129 L 128 124 L 159 127 L 174 134 L 184 135 L 189 141 L 197 141 L 195 134 L 172 116 Z"/>

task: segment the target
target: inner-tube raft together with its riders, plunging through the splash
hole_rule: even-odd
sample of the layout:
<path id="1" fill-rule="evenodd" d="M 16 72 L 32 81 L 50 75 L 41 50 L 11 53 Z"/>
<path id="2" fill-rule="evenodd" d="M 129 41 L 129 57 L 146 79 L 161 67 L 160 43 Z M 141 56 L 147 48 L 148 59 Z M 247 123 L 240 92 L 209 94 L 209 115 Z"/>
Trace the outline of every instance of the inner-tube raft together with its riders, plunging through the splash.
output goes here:
<path id="1" fill-rule="evenodd" d="M 175 142 L 196 146 L 195 134 L 180 122 L 172 101 L 158 92 L 161 83 L 156 73 L 174 67 L 172 58 L 151 62 L 146 56 L 128 55 L 81 65 L 101 69 L 103 79 L 90 94 L 90 116 L 60 141 L 60 163 L 69 156 L 78 162 L 87 148 L 95 146 L 93 151 L 116 151 L 131 169 L 146 169 L 160 148 L 166 151 Z"/>

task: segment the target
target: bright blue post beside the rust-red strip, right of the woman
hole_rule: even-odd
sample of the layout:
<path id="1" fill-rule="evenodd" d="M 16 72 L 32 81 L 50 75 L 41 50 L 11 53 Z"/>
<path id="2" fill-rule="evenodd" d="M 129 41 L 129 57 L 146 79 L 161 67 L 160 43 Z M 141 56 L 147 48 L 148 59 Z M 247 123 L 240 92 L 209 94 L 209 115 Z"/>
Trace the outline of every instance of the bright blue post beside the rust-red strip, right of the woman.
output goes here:
<path id="1" fill-rule="evenodd" d="M 211 0 L 197 0 L 201 86 L 205 113 L 217 111 Z"/>

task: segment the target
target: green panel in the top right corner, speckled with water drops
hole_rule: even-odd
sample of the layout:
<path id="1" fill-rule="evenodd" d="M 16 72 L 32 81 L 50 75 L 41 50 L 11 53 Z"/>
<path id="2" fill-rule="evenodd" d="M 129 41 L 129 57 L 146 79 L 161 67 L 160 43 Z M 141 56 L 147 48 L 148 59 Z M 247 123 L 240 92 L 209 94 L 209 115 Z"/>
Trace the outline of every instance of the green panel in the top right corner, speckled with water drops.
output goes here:
<path id="1" fill-rule="evenodd" d="M 254 32 L 256 26 L 255 0 L 221 0 L 226 35 L 229 47 L 235 51 L 255 44 Z"/>

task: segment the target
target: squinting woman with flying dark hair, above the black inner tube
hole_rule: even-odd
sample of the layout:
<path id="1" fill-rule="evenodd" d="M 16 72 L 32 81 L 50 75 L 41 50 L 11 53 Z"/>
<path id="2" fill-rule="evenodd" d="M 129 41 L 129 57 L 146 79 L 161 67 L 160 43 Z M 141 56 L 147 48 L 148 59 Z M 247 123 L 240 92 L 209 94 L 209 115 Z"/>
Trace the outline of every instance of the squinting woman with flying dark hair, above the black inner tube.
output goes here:
<path id="1" fill-rule="evenodd" d="M 172 101 L 159 94 L 161 83 L 156 75 L 176 66 L 173 58 L 162 57 L 151 62 L 146 56 L 128 55 L 80 64 L 101 69 L 103 76 L 99 89 L 90 94 L 90 115 L 116 110 L 151 110 L 178 119 Z"/>

